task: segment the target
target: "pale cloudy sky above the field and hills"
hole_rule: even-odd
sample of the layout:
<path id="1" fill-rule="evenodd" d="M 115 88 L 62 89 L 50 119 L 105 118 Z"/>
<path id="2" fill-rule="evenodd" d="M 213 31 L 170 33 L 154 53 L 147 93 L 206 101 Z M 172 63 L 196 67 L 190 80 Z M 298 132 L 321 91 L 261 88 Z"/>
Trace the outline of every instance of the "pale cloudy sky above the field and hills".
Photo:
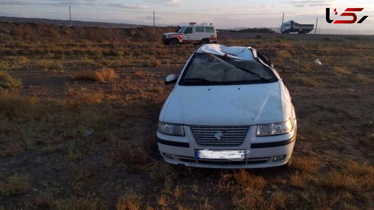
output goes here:
<path id="1" fill-rule="evenodd" d="M 284 21 L 316 24 L 318 28 L 374 30 L 374 0 L 0 0 L 0 16 L 69 19 L 153 25 L 182 25 L 188 22 L 213 23 L 216 28 L 279 27 Z M 328 24 L 330 19 L 349 19 L 332 14 L 347 7 L 364 8 L 356 12 L 361 24 Z"/>

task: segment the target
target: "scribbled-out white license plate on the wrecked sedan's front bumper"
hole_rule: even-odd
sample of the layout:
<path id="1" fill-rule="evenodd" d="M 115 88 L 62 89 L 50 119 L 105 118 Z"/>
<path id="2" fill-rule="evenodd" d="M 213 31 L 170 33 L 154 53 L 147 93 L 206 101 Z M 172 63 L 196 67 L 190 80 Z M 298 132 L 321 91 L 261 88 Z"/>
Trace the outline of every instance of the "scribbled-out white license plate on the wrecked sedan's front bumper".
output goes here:
<path id="1" fill-rule="evenodd" d="M 196 159 L 215 159 L 215 160 L 244 160 L 246 150 L 211 150 L 195 149 Z"/>

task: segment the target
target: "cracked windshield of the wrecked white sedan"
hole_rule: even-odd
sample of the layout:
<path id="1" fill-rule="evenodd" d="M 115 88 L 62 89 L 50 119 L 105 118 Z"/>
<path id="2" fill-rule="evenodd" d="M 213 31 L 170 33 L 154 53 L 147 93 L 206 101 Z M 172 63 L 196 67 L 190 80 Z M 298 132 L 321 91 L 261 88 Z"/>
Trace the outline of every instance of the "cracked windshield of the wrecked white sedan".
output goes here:
<path id="1" fill-rule="evenodd" d="M 258 84 L 278 81 L 256 60 L 241 60 L 210 53 L 196 53 L 183 72 L 180 85 Z"/>

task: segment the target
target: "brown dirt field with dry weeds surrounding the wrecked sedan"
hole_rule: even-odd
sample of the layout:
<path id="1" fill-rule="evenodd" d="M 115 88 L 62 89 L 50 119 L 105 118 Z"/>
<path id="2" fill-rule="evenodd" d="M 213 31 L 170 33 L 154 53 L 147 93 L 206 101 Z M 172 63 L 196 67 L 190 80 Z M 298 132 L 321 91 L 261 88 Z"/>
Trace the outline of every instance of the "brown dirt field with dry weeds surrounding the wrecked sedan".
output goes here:
<path id="1" fill-rule="evenodd" d="M 67 41 L 52 27 L 22 41 L 0 26 L 0 209 L 374 208 L 373 37 L 220 34 L 272 57 L 298 139 L 290 169 L 219 170 L 165 164 L 157 150 L 164 77 L 196 46 L 144 42 L 144 28 Z"/>

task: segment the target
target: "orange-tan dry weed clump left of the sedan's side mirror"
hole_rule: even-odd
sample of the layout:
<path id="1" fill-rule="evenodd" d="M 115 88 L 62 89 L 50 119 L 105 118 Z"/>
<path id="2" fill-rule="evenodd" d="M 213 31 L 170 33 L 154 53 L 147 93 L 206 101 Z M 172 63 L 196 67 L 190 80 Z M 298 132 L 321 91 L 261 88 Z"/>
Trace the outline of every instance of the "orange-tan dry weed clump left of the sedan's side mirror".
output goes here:
<path id="1" fill-rule="evenodd" d="M 119 78 L 119 75 L 111 68 L 102 68 L 94 72 L 82 72 L 74 77 L 76 80 L 92 80 L 100 83 L 107 83 Z"/>

